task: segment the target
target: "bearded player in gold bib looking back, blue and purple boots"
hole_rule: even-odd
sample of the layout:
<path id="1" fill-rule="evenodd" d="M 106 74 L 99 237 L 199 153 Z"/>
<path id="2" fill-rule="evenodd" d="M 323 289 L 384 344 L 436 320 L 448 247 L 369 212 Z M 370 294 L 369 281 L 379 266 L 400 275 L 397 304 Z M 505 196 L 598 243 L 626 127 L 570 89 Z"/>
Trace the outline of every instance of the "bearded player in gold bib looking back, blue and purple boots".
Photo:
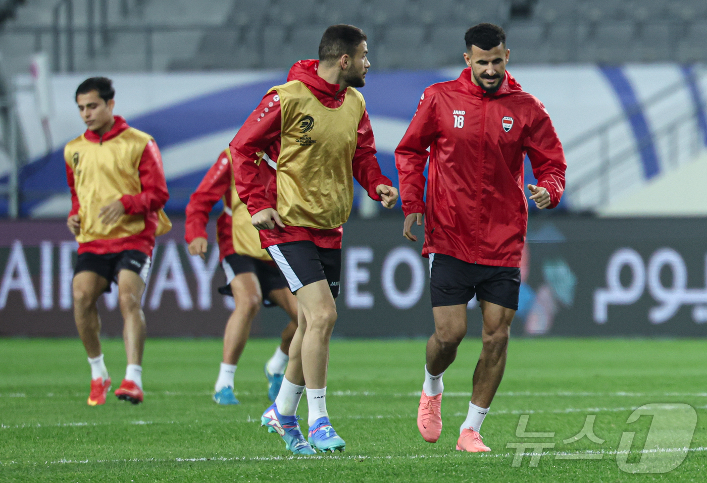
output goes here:
<path id="1" fill-rule="evenodd" d="M 361 29 L 327 28 L 319 60 L 298 61 L 288 83 L 268 91 L 230 143 L 238 194 L 299 304 L 285 380 L 262 416 L 298 454 L 315 453 L 312 446 L 332 452 L 345 446 L 329 422 L 326 393 L 341 225 L 351 212 L 354 177 L 386 208 L 398 196 L 380 172 L 366 103 L 355 89 L 366 83 L 367 54 Z M 262 151 L 276 162 L 276 179 L 259 170 Z M 305 386 L 309 444 L 296 416 Z"/>

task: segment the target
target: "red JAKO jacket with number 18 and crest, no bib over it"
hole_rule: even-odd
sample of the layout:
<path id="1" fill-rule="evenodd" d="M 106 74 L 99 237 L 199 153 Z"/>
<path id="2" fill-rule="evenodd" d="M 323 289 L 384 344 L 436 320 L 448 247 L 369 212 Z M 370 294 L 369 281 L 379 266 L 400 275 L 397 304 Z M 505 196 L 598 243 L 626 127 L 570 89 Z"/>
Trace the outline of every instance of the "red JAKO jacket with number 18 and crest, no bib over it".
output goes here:
<path id="1" fill-rule="evenodd" d="M 425 213 L 423 256 L 519 267 L 527 229 L 526 153 L 554 208 L 567 164 L 542 102 L 508 72 L 493 94 L 472 82 L 471 68 L 426 88 L 395 150 L 403 213 Z"/>

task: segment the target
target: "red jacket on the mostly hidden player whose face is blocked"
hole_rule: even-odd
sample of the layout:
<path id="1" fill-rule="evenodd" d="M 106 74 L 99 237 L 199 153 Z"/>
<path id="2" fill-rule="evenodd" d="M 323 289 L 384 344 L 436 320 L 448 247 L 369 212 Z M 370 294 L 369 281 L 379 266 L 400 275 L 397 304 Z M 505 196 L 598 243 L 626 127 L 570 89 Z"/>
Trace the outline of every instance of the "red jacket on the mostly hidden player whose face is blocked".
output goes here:
<path id="1" fill-rule="evenodd" d="M 216 241 L 218 242 L 218 258 L 223 261 L 228 255 L 235 254 L 233 249 L 233 233 L 231 229 L 230 211 L 230 179 L 233 176 L 226 150 L 218 159 L 204 179 L 199 183 L 197 191 L 192 193 L 187 205 L 187 221 L 185 222 L 185 240 L 192 243 L 194 238 L 205 238 L 206 225 L 209 223 L 209 213 L 218 200 L 223 198 L 224 210 L 216 220 Z M 228 210 L 226 209 L 228 208 Z"/>

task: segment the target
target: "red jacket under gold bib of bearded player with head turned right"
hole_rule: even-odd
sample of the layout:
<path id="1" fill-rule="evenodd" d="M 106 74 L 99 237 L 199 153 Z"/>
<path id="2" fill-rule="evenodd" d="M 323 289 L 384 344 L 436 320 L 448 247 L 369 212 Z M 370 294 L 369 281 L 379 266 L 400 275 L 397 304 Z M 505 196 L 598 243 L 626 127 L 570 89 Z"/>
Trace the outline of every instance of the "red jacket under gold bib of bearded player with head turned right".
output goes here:
<path id="1" fill-rule="evenodd" d="M 326 107 L 333 109 L 341 106 L 346 90 L 337 93 L 339 85 L 329 84 L 318 76 L 318 67 L 318 60 L 298 61 L 290 69 L 287 81 L 302 81 Z M 257 153 L 264 151 L 272 161 L 277 162 L 280 153 L 280 126 L 279 97 L 275 91 L 271 90 L 263 97 L 258 107 L 250 114 L 233 141 L 230 142 L 235 188 L 251 215 L 255 215 L 265 208 L 276 208 L 277 206 L 276 183 L 264 182 L 261 170 L 254 161 L 258 159 Z M 380 196 L 375 192 L 376 186 L 379 184 L 392 186 L 392 183 L 380 172 L 380 166 L 375 157 L 375 141 L 373 129 L 371 129 L 368 119 L 368 111 L 363 112 L 361 121 L 358 123 L 358 141 L 352 165 L 356 181 L 366 189 L 370 198 L 380 201 Z M 341 227 L 316 229 L 276 226 L 274 229 L 259 230 L 263 248 L 288 241 L 308 240 L 322 248 L 336 249 L 341 248 L 342 233 Z"/>

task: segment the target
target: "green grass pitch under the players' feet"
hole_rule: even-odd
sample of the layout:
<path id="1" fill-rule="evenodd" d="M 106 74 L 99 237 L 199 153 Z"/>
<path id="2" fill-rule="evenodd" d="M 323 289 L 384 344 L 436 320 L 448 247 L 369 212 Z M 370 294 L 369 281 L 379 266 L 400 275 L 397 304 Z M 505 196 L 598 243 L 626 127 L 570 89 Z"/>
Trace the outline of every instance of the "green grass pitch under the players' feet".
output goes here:
<path id="1" fill-rule="evenodd" d="M 81 342 L 0 339 L 0 482 L 704 481 L 703 341 L 511 340 L 506 376 L 481 429 L 492 451 L 474 455 L 455 451 L 455 442 L 480 345 L 464 340 L 446 372 L 444 429 L 429 444 L 415 424 L 425 342 L 334 340 L 328 409 L 346 451 L 294 458 L 259 425 L 269 405 L 262 366 L 275 340 L 249 342 L 236 371 L 238 406 L 211 400 L 220 340 L 153 339 L 146 345 L 145 403 L 110 395 L 106 405 L 88 407 Z M 124 374 L 122 341 L 105 341 L 104 353 L 115 388 Z M 621 434 L 634 431 L 627 463 L 646 458 L 650 417 L 626 419 L 648 403 L 694 407 L 694 437 L 676 469 L 629 474 L 617 466 L 617 448 Z M 305 398 L 299 414 L 306 425 Z M 537 451 L 537 466 L 530 455 L 514 466 L 515 449 L 506 446 L 530 441 L 516 436 L 521 415 L 530 415 L 525 431 L 554 432 L 532 440 L 554 443 Z M 594 432 L 604 443 L 563 443 L 588 415 L 595 415 Z M 602 458 L 556 458 L 588 451 Z"/>

